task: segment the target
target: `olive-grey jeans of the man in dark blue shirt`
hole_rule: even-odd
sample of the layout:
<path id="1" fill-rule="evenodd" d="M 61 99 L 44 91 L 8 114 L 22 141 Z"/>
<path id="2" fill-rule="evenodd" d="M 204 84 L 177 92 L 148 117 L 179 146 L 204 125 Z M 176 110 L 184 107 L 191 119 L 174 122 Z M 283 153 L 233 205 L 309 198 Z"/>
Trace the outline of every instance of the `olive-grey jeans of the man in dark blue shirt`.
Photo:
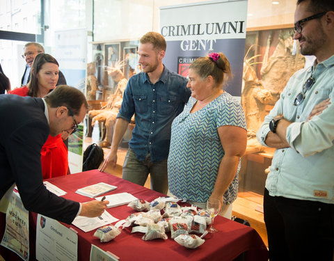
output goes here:
<path id="1" fill-rule="evenodd" d="M 122 178 L 143 186 L 149 173 L 151 189 L 166 195 L 168 192 L 167 159 L 153 163 L 148 152 L 145 160 L 139 161 L 134 150 L 129 148 L 123 164 Z"/>

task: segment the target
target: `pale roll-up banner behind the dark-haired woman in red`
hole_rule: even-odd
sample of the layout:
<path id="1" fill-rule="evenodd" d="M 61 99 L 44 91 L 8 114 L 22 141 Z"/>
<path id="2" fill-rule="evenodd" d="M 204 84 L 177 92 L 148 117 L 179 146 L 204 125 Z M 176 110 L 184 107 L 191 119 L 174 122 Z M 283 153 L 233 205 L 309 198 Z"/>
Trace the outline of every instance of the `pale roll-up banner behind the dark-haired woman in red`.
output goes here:
<path id="1" fill-rule="evenodd" d="M 71 29 L 55 32 L 54 56 L 67 85 L 86 92 L 87 30 Z M 86 94 L 86 93 L 85 93 Z M 68 165 L 71 173 L 82 171 L 84 125 L 68 138 Z"/>

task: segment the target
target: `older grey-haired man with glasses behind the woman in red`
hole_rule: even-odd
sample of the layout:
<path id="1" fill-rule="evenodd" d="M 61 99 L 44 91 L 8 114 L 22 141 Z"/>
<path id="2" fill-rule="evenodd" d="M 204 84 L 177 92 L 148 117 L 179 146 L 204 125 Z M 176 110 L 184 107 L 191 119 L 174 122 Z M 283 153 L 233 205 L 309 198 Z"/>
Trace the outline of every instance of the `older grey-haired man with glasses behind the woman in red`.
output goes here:
<path id="1" fill-rule="evenodd" d="M 26 45 L 24 45 L 24 54 L 22 57 L 26 60 L 26 68 L 24 69 L 24 74 L 21 80 L 22 86 L 28 84 L 30 81 L 30 72 L 31 65 L 33 65 L 33 59 L 35 59 L 38 54 L 44 52 L 44 47 L 42 47 L 42 45 L 40 45 L 38 42 L 28 42 Z M 66 79 L 63 72 L 59 71 L 58 75 L 59 77 L 56 86 L 66 85 Z"/>

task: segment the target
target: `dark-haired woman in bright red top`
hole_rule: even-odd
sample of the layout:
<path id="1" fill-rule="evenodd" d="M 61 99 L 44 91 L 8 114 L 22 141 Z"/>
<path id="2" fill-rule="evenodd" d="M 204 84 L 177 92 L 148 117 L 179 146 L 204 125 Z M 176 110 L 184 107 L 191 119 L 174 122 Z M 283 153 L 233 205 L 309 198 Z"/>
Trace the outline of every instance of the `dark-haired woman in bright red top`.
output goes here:
<path id="1" fill-rule="evenodd" d="M 26 86 L 16 88 L 8 94 L 20 96 L 45 97 L 47 93 L 56 88 L 59 72 L 58 62 L 49 54 L 38 54 L 31 67 L 31 80 Z M 63 139 L 71 133 L 63 132 L 58 136 L 50 136 L 41 150 L 43 179 L 67 175 L 68 159 L 67 148 Z M 62 139 L 63 138 L 63 139 Z"/>

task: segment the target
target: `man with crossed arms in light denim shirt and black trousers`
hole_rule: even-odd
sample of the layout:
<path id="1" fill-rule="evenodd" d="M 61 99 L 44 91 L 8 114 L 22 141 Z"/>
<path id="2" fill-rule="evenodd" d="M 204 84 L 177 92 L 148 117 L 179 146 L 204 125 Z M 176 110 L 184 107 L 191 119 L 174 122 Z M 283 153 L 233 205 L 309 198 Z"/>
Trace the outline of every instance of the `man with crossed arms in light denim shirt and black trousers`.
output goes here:
<path id="1" fill-rule="evenodd" d="M 333 260 L 334 1 L 299 0 L 294 39 L 312 67 L 289 79 L 257 132 L 276 148 L 264 191 L 269 260 Z"/>

